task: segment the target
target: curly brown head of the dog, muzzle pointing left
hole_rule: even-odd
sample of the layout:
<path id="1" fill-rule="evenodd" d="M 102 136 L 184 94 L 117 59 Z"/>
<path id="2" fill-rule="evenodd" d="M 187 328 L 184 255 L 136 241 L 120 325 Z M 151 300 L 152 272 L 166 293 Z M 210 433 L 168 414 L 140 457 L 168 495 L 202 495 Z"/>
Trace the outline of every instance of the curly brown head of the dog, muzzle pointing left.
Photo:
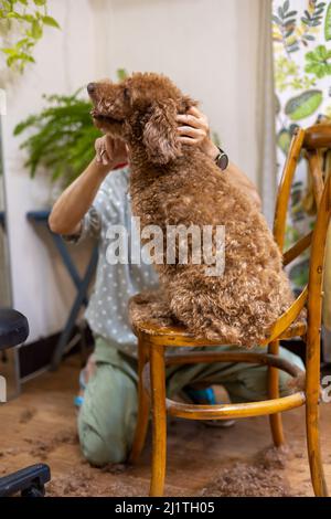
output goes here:
<path id="1" fill-rule="evenodd" d="M 87 91 L 94 104 L 94 123 L 104 133 L 142 142 L 153 163 L 166 165 L 181 156 L 175 117 L 196 102 L 168 77 L 137 73 L 119 84 L 89 83 Z"/>

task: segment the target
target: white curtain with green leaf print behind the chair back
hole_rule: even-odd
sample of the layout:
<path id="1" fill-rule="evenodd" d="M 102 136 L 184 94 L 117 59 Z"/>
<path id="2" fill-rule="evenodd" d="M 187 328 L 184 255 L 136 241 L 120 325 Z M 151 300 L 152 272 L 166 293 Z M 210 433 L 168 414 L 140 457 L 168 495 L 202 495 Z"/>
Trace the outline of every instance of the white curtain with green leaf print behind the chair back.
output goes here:
<path id="1" fill-rule="evenodd" d="M 297 126 L 306 128 L 325 118 L 331 123 L 331 2 L 274 0 L 273 40 L 280 176 Z M 307 163 L 302 157 L 291 193 L 287 246 L 313 227 L 309 188 Z M 308 261 L 309 252 L 289 268 L 297 292 L 308 280 Z M 331 308 L 329 310 L 331 313 Z"/>

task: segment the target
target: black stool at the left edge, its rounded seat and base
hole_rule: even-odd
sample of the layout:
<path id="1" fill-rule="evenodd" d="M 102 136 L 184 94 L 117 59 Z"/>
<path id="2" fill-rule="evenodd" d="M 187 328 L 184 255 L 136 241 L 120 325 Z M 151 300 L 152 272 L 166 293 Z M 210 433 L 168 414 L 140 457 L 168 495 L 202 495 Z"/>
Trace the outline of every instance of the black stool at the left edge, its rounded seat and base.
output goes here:
<path id="1" fill-rule="evenodd" d="M 0 351 L 19 346 L 29 336 L 26 317 L 10 308 L 0 309 Z M 1 373 L 0 373 L 1 374 Z M 0 497 L 21 492 L 22 497 L 43 497 L 51 479 L 47 465 L 38 464 L 0 478 Z"/>

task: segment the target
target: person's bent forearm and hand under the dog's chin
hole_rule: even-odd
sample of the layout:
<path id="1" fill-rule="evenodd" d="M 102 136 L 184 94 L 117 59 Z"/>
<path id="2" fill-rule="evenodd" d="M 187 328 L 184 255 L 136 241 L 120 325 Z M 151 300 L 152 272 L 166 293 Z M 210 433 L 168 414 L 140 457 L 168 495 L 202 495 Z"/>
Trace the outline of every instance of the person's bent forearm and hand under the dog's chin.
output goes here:
<path id="1" fill-rule="evenodd" d="M 121 141 L 109 136 L 96 140 L 96 157 L 86 170 L 61 194 L 50 214 L 49 224 L 57 234 L 78 234 L 82 220 L 110 170 L 127 159 Z"/>

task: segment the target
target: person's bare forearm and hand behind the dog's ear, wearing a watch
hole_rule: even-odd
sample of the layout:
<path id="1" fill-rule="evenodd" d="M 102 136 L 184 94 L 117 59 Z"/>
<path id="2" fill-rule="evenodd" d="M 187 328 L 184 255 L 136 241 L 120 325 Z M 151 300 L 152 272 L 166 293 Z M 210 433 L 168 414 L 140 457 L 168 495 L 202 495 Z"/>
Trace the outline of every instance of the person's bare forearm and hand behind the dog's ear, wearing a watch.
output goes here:
<path id="1" fill-rule="evenodd" d="M 191 146 L 200 146 L 211 159 L 215 160 L 220 150 L 210 138 L 210 125 L 206 116 L 192 107 L 185 115 L 177 117 L 179 140 Z M 238 189 L 244 191 L 261 209 L 261 201 L 254 183 L 234 163 L 229 163 L 224 174 Z"/>

